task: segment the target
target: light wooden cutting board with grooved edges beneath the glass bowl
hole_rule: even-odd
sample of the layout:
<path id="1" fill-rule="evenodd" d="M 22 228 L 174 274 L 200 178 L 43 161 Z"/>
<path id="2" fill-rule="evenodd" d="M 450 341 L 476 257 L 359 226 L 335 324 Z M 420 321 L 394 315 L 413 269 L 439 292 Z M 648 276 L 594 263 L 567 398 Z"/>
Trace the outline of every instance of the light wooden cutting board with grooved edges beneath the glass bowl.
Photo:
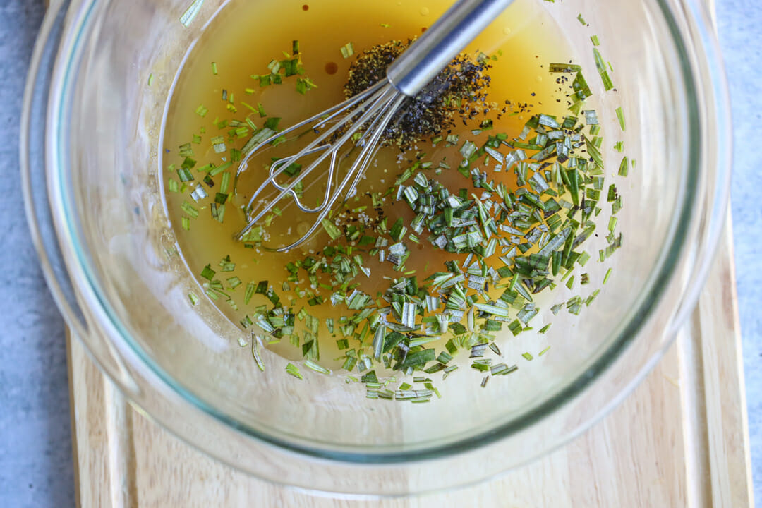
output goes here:
<path id="1" fill-rule="evenodd" d="M 332 500 L 248 477 L 142 417 L 70 340 L 78 506 L 753 506 L 731 238 L 692 321 L 620 407 L 545 458 L 448 494 Z"/>

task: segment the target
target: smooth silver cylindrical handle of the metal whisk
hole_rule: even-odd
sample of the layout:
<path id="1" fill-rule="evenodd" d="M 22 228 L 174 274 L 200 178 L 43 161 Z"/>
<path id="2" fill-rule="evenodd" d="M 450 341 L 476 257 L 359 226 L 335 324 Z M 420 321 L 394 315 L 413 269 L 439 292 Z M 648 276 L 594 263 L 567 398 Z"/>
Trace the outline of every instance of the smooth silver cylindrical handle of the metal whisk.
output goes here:
<path id="1" fill-rule="evenodd" d="M 513 0 L 458 0 L 386 70 L 408 97 L 418 94 Z"/>

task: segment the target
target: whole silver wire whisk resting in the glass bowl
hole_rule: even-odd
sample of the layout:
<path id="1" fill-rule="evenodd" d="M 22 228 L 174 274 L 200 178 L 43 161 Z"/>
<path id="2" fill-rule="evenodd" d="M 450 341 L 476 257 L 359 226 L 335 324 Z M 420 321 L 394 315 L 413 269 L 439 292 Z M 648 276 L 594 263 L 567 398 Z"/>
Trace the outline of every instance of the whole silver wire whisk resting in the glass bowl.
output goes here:
<path id="1" fill-rule="evenodd" d="M 354 187 L 357 186 L 378 151 L 384 130 L 405 101 L 415 97 L 511 2 L 513 0 L 459 0 L 399 58 L 395 59 L 392 65 L 389 65 L 385 80 L 256 145 L 241 161 L 237 176 L 248 168 L 248 161 L 259 149 L 269 145 L 275 139 L 287 136 L 306 126 L 310 126 L 315 133 L 319 133 L 317 138 L 299 152 L 280 158 L 270 166 L 269 176 L 251 195 L 245 208 L 248 223 L 239 232 L 238 239 L 245 238 L 251 228 L 268 212 L 271 212 L 281 199 L 290 194 L 293 203 L 300 210 L 318 214 L 318 217 L 301 238 L 276 250 L 288 251 L 306 241 L 319 228 L 339 197 L 350 196 L 354 191 Z M 359 139 L 354 140 L 354 146 L 360 149 L 360 153 L 354 158 L 341 182 L 335 181 L 339 152 L 347 142 L 351 142 L 359 129 L 362 129 L 362 133 Z M 306 158 L 315 154 L 318 154 L 316 158 L 301 169 L 299 174 L 287 181 L 287 184 L 280 184 L 276 180 L 292 165 L 299 164 L 299 161 L 305 161 Z M 328 168 L 325 196 L 318 206 L 306 206 L 299 199 L 297 186 L 312 171 L 325 165 Z M 253 207 L 258 204 L 258 200 L 262 199 L 263 192 L 269 186 L 273 186 L 280 192 L 254 213 Z"/>

